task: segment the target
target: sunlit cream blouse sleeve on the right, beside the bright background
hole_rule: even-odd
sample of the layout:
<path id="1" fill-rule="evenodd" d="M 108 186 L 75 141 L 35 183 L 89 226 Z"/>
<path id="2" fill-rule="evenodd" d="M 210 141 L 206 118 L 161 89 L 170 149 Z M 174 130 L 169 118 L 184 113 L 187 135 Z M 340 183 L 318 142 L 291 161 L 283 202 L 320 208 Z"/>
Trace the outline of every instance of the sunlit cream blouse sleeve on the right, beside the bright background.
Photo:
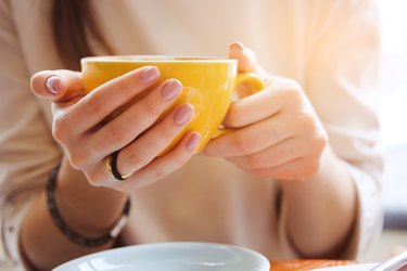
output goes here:
<path id="1" fill-rule="evenodd" d="M 315 27 L 304 89 L 357 188 L 358 219 L 343 253 L 354 257 L 366 251 L 382 228 L 383 162 L 376 105 L 379 15 L 373 1 L 323 4 L 315 22 L 326 23 Z"/>

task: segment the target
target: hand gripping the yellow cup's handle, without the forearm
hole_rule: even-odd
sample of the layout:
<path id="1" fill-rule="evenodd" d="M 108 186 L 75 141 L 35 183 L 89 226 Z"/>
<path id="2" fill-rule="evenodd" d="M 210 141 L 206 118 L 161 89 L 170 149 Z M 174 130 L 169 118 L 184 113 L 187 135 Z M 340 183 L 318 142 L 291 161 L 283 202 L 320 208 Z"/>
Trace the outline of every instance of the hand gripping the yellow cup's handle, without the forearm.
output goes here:
<path id="1" fill-rule="evenodd" d="M 240 72 L 258 73 L 267 87 L 231 104 L 224 126 L 236 130 L 212 140 L 202 154 L 225 157 L 266 178 L 304 180 L 314 175 L 328 138 L 301 86 L 268 75 L 241 43 L 231 44 L 229 56 L 238 59 Z"/>

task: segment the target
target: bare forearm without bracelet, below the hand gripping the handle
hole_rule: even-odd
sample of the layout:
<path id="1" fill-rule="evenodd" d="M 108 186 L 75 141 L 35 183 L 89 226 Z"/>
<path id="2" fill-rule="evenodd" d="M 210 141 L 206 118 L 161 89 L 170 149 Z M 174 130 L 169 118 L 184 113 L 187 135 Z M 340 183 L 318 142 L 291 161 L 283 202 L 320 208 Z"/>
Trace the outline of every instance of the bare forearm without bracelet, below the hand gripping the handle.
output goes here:
<path id="1" fill-rule="evenodd" d="M 287 228 L 304 257 L 334 257 L 343 248 L 357 215 L 356 186 L 330 149 L 319 170 L 305 181 L 282 182 Z"/>

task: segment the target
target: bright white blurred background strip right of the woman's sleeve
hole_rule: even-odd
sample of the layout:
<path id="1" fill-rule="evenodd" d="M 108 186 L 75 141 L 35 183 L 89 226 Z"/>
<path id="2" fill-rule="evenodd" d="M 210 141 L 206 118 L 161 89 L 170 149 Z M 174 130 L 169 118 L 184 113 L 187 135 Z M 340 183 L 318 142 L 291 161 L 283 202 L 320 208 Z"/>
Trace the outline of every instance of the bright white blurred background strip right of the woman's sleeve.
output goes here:
<path id="1" fill-rule="evenodd" d="M 366 260 L 407 249 L 407 1 L 377 2 L 383 47 L 379 113 L 385 152 L 384 231 Z"/>

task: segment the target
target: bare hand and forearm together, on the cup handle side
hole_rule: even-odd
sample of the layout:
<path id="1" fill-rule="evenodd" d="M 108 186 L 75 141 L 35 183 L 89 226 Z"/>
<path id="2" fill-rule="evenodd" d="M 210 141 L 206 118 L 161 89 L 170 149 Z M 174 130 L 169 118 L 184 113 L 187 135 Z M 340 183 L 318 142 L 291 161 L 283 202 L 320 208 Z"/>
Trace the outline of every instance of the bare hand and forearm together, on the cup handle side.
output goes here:
<path id="1" fill-rule="evenodd" d="M 231 44 L 229 56 L 239 60 L 240 72 L 259 74 L 267 87 L 254 94 L 240 91 L 251 95 L 234 102 L 224 121 L 234 131 L 209 142 L 203 154 L 280 180 L 287 232 L 297 253 L 338 257 L 354 225 L 356 188 L 313 105 L 298 83 L 266 73 L 241 43 Z"/>

